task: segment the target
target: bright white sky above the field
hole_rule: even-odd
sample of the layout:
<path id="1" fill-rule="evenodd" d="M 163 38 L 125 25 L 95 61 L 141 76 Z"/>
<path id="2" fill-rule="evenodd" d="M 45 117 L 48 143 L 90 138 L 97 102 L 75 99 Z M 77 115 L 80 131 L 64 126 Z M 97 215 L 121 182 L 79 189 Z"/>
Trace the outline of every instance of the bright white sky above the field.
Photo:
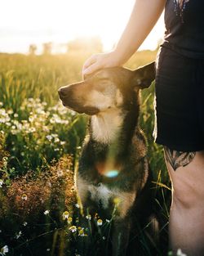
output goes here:
<path id="1" fill-rule="evenodd" d="M 0 0 L 0 52 L 22 52 L 29 44 L 67 43 L 100 36 L 104 51 L 118 42 L 135 0 Z M 163 16 L 140 49 L 155 49 Z"/>

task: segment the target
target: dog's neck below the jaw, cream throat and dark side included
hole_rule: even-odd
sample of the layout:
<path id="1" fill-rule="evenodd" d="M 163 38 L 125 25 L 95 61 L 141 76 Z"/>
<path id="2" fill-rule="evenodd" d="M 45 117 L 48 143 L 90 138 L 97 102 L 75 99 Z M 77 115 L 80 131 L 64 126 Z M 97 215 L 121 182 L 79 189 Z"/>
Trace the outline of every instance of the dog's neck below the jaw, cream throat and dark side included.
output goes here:
<path id="1" fill-rule="evenodd" d="M 110 109 L 91 117 L 90 139 L 104 146 L 126 150 L 137 126 L 139 106 L 128 110 Z M 119 152 L 118 152 L 119 153 Z"/>

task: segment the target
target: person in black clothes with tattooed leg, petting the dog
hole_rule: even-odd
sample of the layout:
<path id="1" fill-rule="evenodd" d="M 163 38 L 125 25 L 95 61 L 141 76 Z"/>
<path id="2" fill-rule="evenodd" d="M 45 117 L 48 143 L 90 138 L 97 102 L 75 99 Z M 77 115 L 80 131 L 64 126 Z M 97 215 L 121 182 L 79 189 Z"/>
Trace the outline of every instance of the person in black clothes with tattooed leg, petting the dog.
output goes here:
<path id="1" fill-rule="evenodd" d="M 204 255 L 204 2 L 137 0 L 112 52 L 95 54 L 83 74 L 124 65 L 162 11 L 166 31 L 156 61 L 155 141 L 171 177 L 170 248 Z"/>

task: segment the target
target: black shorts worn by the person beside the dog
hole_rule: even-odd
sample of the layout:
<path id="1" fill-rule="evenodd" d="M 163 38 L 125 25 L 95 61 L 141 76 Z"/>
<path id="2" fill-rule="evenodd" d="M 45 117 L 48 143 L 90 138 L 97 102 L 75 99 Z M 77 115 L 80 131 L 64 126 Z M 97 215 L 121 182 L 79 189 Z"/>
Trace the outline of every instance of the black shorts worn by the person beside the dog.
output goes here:
<path id="1" fill-rule="evenodd" d="M 204 150 L 204 60 L 162 47 L 156 65 L 155 141 L 172 150 Z"/>

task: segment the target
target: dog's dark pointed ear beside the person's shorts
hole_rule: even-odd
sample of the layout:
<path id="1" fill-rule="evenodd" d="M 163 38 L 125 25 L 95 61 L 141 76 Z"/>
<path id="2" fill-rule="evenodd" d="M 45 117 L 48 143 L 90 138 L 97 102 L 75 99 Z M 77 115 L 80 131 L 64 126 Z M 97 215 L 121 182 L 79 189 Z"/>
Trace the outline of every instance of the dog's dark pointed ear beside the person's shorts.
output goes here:
<path id="1" fill-rule="evenodd" d="M 155 62 L 144 65 L 136 70 L 133 70 L 132 85 L 135 88 L 149 88 L 155 79 Z"/>

